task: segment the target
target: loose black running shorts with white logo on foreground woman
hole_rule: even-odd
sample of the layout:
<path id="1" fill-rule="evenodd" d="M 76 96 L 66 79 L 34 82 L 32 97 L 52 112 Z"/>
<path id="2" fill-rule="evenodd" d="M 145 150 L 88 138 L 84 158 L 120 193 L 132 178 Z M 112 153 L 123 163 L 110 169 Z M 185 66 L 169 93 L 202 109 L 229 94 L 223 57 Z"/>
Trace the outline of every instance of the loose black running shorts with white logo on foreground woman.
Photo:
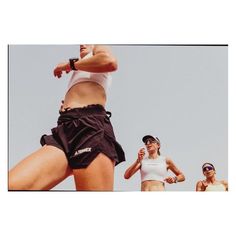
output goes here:
<path id="1" fill-rule="evenodd" d="M 125 161 L 125 154 L 116 141 L 110 116 L 101 105 L 60 112 L 58 126 L 51 135 L 43 135 L 40 143 L 63 150 L 72 169 L 86 168 L 99 153 L 117 165 Z"/>

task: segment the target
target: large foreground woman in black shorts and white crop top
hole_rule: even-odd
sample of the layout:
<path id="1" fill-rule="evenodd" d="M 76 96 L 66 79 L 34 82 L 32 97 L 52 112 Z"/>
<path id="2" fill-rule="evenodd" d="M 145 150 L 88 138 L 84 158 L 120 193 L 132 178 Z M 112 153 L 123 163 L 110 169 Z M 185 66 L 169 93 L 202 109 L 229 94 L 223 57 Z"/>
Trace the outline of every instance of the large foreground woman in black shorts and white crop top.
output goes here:
<path id="1" fill-rule="evenodd" d="M 57 126 L 10 170 L 9 190 L 49 190 L 72 174 L 77 190 L 113 190 L 114 166 L 125 161 L 105 110 L 115 70 L 116 59 L 101 45 L 80 45 L 80 59 L 56 66 L 57 78 L 72 73 Z"/>

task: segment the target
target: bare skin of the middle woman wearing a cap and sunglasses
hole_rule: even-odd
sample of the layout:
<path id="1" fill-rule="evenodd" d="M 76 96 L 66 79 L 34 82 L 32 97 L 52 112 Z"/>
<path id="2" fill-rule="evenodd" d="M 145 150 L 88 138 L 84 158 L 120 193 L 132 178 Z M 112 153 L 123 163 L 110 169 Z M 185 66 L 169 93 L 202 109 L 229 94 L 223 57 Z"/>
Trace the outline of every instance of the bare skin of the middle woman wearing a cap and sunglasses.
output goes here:
<path id="1" fill-rule="evenodd" d="M 147 142 L 146 150 L 149 154 L 149 158 L 158 158 L 158 150 L 160 149 L 160 144 L 157 142 Z M 141 161 L 145 156 L 145 148 L 141 148 L 138 152 L 138 159 L 125 171 L 124 178 L 131 178 L 138 170 L 141 169 Z M 185 180 L 183 173 L 176 167 L 174 162 L 170 158 L 166 158 L 167 170 L 171 170 L 178 182 L 182 182 Z M 167 177 L 164 180 L 166 183 L 173 184 L 175 183 L 175 177 Z M 156 180 L 146 180 L 141 183 L 141 191 L 164 191 L 165 186 L 161 181 Z"/>

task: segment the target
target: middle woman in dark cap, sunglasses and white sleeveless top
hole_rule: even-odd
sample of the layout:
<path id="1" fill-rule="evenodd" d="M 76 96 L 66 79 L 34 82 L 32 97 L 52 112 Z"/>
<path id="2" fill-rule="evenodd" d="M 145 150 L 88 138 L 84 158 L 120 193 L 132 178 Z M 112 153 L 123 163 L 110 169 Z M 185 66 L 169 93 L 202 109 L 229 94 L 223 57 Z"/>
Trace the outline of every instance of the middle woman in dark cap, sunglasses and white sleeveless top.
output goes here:
<path id="1" fill-rule="evenodd" d="M 160 140 L 152 135 L 143 137 L 148 156 L 145 157 L 145 148 L 138 152 L 138 159 L 126 170 L 124 178 L 129 179 L 138 170 L 141 173 L 141 191 L 164 191 L 165 182 L 169 184 L 185 180 L 183 173 L 174 162 L 160 154 Z M 175 176 L 168 176 L 171 170 Z"/>

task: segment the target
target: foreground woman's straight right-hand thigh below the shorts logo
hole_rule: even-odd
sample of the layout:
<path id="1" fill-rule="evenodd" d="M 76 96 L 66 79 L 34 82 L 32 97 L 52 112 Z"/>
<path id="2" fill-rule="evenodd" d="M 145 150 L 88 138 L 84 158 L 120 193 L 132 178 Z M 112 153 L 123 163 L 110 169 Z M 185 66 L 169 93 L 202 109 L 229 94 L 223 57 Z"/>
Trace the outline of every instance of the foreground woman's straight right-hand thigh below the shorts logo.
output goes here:
<path id="1" fill-rule="evenodd" d="M 74 169 L 73 174 L 77 190 L 113 190 L 114 161 L 102 153 L 87 168 Z"/>

